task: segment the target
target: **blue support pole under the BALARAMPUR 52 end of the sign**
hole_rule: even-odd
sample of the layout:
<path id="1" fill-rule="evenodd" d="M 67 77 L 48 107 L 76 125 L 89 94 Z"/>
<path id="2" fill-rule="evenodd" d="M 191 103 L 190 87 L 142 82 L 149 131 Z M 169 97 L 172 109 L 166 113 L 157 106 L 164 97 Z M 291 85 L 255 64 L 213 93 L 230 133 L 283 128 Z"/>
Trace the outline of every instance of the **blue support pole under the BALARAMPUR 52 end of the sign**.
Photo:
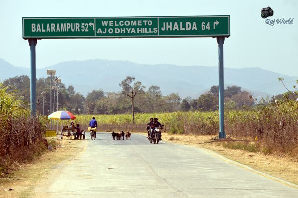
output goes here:
<path id="1" fill-rule="evenodd" d="M 36 116 L 36 56 L 35 46 L 37 39 L 29 39 L 30 54 L 31 54 L 31 78 L 30 78 L 30 108 L 31 116 Z"/>

